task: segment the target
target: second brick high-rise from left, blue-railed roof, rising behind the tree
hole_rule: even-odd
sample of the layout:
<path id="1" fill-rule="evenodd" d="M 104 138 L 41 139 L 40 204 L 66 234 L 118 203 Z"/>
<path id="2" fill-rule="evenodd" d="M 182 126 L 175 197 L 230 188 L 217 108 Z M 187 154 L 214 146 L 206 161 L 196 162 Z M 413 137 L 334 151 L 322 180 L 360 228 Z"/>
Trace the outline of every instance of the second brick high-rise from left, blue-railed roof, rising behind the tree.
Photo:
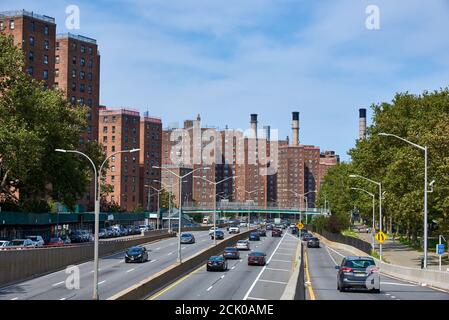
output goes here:
<path id="1" fill-rule="evenodd" d="M 83 144 L 98 140 L 100 105 L 100 53 L 97 41 L 71 33 L 56 37 L 55 84 L 72 104 L 87 106 L 87 128 L 80 137 Z"/>

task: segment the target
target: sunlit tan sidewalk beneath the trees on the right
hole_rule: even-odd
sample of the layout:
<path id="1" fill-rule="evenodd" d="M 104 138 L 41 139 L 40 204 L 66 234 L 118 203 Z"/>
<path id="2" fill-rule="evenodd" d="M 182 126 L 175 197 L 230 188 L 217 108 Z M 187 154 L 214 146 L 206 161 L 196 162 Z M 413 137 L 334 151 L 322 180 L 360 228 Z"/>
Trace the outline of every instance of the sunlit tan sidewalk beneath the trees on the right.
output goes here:
<path id="1" fill-rule="evenodd" d="M 362 240 L 372 242 L 370 233 L 358 233 L 357 235 Z M 378 250 L 379 244 L 376 242 L 376 251 Z M 424 254 L 400 243 L 399 240 L 393 241 L 392 239 L 385 240 L 382 253 L 383 258 L 389 263 L 412 268 L 421 268 L 421 257 Z M 447 257 L 447 253 L 444 256 Z M 427 253 L 427 268 L 438 270 L 438 255 L 435 252 Z M 449 268 L 449 264 L 443 260 L 441 270 L 446 271 L 447 268 Z"/>

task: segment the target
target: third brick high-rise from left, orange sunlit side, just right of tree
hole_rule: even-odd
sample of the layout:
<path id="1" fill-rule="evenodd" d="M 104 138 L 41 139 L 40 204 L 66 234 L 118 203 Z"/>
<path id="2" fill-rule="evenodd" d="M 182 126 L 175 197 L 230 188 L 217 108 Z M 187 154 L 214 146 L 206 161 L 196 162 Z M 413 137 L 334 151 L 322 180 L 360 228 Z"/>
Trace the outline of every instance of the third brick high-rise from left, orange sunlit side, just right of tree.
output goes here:
<path id="1" fill-rule="evenodd" d="M 99 140 L 106 154 L 141 147 L 140 114 L 129 109 L 100 109 Z M 138 152 L 119 153 L 109 161 L 105 183 L 112 185 L 113 191 L 106 197 L 121 208 L 132 211 L 141 204 L 139 199 L 140 167 Z"/>

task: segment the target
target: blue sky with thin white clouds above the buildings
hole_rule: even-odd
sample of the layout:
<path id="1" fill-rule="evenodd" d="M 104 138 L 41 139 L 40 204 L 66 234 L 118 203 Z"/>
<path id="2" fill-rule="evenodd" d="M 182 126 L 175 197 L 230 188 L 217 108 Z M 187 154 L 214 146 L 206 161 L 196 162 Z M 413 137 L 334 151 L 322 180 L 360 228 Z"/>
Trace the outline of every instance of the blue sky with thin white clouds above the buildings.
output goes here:
<path id="1" fill-rule="evenodd" d="M 80 11 L 79 29 L 66 8 Z M 379 9 L 379 28 L 366 27 Z M 57 32 L 97 40 L 100 103 L 162 118 L 246 130 L 251 113 L 343 161 L 358 109 L 396 92 L 448 86 L 447 0 L 2 0 L 56 19 Z"/>

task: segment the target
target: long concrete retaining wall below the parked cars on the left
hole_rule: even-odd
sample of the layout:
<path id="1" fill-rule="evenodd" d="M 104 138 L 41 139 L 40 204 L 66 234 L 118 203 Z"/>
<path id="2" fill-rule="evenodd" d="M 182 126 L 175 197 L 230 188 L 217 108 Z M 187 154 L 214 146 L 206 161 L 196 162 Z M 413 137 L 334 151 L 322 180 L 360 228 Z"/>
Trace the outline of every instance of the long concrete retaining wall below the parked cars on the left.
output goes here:
<path id="1" fill-rule="evenodd" d="M 144 236 L 100 241 L 99 256 L 110 255 L 129 247 L 173 237 L 166 230 L 146 232 Z M 62 270 L 69 265 L 92 260 L 93 243 L 51 248 L 0 251 L 0 286 Z"/>

